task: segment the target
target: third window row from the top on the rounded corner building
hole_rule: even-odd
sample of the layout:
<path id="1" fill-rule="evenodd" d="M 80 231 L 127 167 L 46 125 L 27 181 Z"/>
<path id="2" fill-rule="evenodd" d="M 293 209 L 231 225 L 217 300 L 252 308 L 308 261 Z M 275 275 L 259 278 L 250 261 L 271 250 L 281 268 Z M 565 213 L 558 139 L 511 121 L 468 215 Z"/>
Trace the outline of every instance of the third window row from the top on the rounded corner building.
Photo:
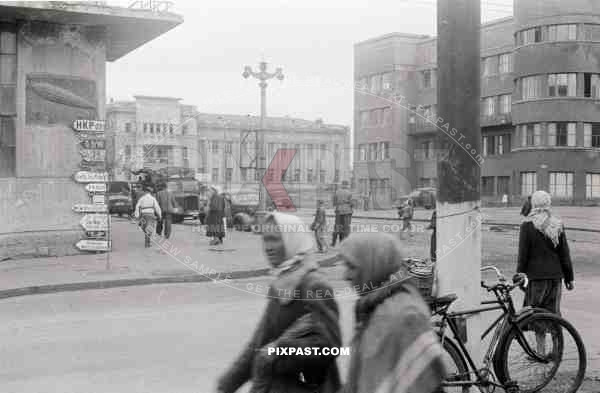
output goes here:
<path id="1" fill-rule="evenodd" d="M 577 123 L 521 124 L 517 131 L 522 147 L 577 146 Z M 583 147 L 600 147 L 600 123 L 583 124 Z"/>

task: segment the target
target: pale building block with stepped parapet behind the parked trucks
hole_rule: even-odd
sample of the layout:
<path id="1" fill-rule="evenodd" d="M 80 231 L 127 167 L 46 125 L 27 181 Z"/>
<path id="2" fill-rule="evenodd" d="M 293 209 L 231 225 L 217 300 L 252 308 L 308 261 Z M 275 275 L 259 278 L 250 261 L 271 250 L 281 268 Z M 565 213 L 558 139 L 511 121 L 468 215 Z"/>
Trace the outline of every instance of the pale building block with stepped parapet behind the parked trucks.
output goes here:
<path id="1" fill-rule="evenodd" d="M 130 170 L 168 168 L 195 174 L 199 167 L 196 108 L 180 98 L 135 96 L 106 109 L 114 135 L 115 179 L 132 180 Z"/>

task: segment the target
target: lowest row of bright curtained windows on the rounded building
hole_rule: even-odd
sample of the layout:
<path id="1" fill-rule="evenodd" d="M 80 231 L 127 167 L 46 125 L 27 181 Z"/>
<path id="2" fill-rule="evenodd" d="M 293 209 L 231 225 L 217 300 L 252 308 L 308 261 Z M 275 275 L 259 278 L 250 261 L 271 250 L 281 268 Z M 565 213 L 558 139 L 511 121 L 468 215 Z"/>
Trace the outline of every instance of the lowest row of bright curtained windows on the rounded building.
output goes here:
<path id="1" fill-rule="evenodd" d="M 537 191 L 537 173 L 521 172 L 521 195 L 528 196 Z M 550 172 L 549 192 L 556 198 L 573 198 L 573 172 Z M 585 198 L 600 198 L 600 173 L 586 173 Z"/>

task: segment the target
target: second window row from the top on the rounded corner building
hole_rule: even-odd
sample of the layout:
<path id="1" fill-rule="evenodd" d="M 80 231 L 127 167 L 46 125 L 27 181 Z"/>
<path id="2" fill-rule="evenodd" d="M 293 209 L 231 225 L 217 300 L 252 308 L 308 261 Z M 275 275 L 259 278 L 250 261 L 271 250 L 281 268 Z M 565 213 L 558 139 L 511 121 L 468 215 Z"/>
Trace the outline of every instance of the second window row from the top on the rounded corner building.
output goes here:
<path id="1" fill-rule="evenodd" d="M 584 73 L 580 78 L 574 72 L 526 76 L 517 80 L 517 88 L 523 100 L 578 96 L 600 99 L 600 74 Z"/>

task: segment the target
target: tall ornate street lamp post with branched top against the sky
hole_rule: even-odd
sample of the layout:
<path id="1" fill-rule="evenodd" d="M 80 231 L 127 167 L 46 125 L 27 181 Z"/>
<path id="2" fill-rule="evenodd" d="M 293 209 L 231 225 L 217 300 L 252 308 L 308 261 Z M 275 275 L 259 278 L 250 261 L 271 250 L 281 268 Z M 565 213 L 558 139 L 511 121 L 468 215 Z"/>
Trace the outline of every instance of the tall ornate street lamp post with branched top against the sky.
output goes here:
<path id="1" fill-rule="evenodd" d="M 267 117 L 267 81 L 269 79 L 273 79 L 273 78 L 277 78 L 280 81 L 283 80 L 283 69 L 282 68 L 276 68 L 275 72 L 271 73 L 271 72 L 267 72 L 267 63 L 265 61 L 261 61 L 259 63 L 259 71 L 255 72 L 252 70 L 252 67 L 250 66 L 245 66 L 244 67 L 244 72 L 242 73 L 242 76 L 246 79 L 248 79 L 249 77 L 254 77 L 256 79 L 258 79 L 260 82 L 258 83 L 258 86 L 260 87 L 260 129 L 258 130 L 258 132 L 256 133 L 256 139 L 257 139 L 257 154 L 258 154 L 258 159 L 256 160 L 256 171 L 259 174 L 258 177 L 260 180 L 262 180 L 263 176 L 264 176 L 264 172 L 266 170 L 266 158 L 265 158 L 265 151 L 264 151 L 264 147 L 265 147 L 265 118 Z M 262 182 L 261 182 L 262 183 Z M 258 190 L 259 190 L 259 194 L 258 194 L 258 214 L 264 214 L 265 210 L 266 210 L 266 190 L 264 188 L 264 184 L 259 184 L 258 185 Z"/>

